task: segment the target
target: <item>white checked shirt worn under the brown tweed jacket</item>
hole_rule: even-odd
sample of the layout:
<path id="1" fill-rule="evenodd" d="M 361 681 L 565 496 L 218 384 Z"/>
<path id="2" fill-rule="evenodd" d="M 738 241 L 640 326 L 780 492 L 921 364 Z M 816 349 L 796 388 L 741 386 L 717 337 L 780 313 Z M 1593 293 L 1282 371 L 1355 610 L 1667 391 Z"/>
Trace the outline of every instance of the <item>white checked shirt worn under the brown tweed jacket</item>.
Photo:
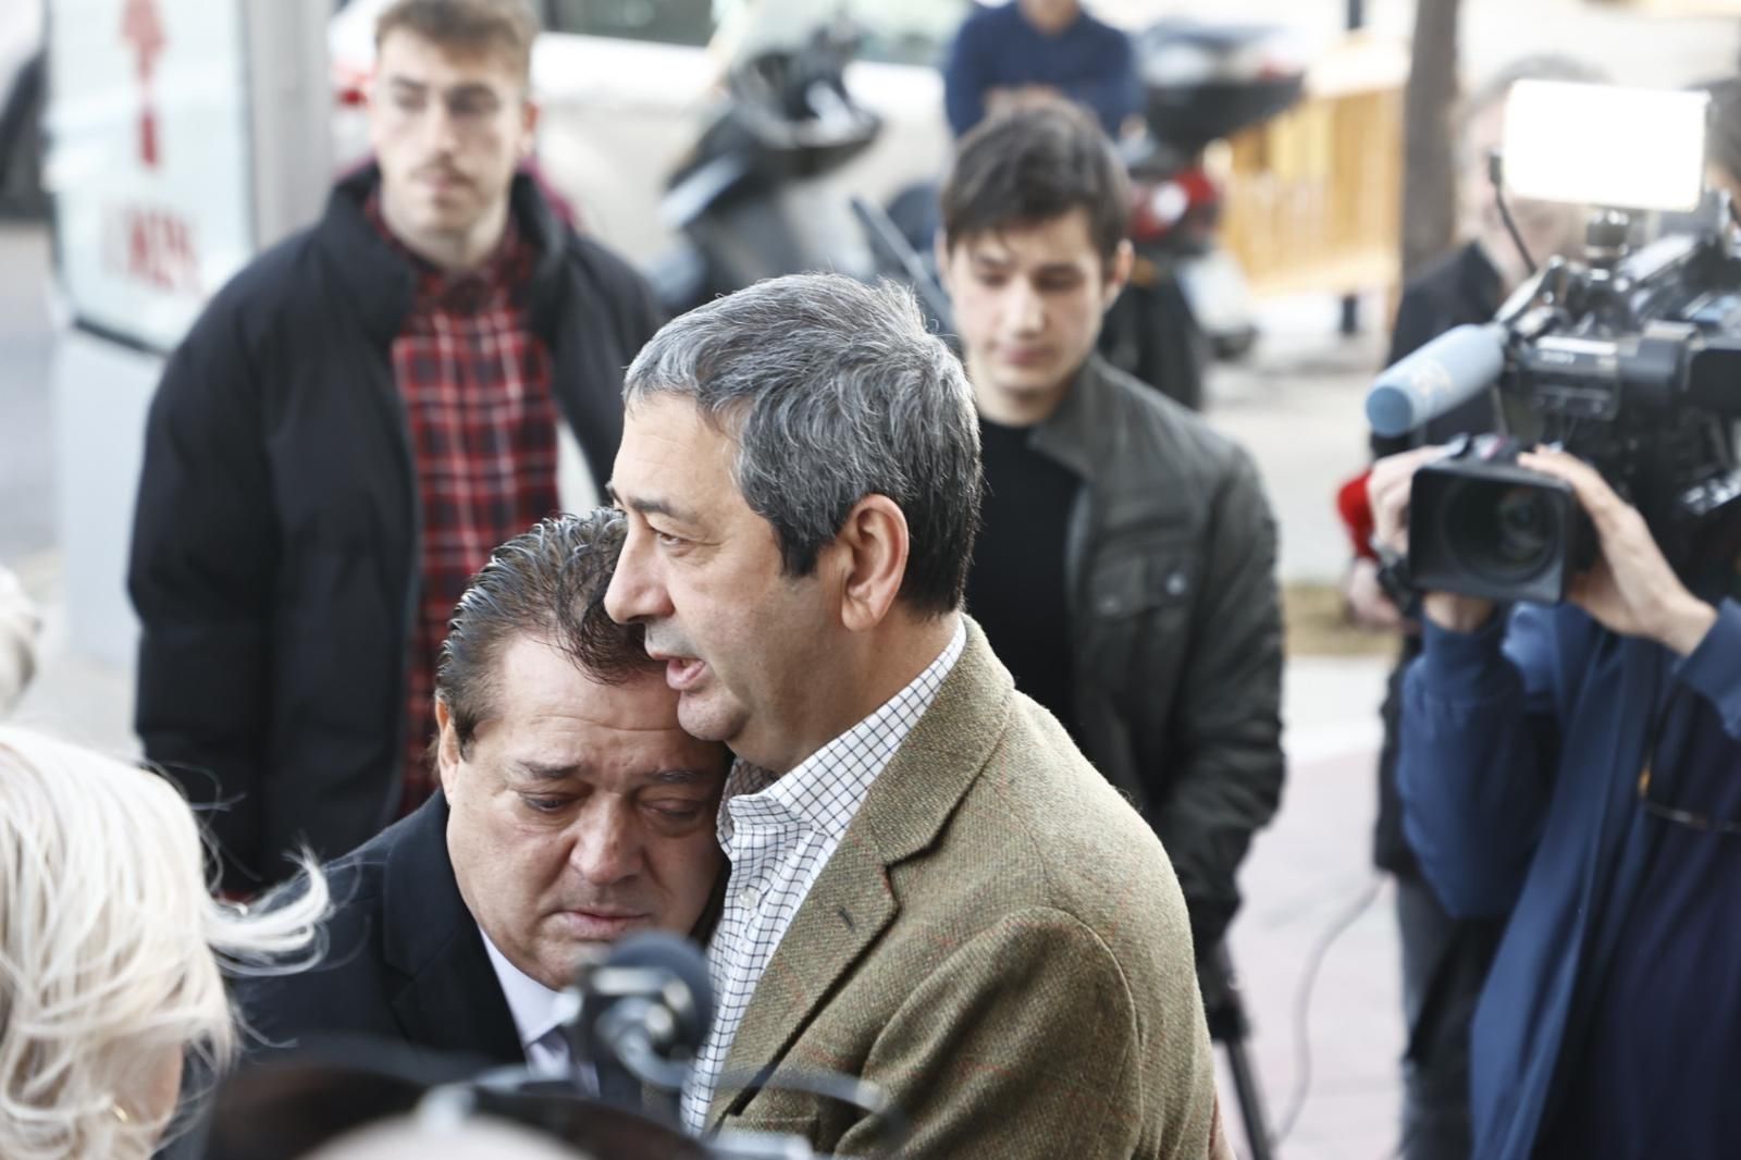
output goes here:
<path id="1" fill-rule="evenodd" d="M 958 620 L 949 646 L 924 672 L 785 777 L 747 761 L 731 766 L 719 810 L 719 846 L 731 860 L 731 878 L 707 956 L 714 1026 L 682 1092 L 682 1123 L 691 1132 L 707 1125 L 731 1042 L 775 948 L 841 845 L 870 784 L 931 707 L 966 639 L 966 625 Z"/>

